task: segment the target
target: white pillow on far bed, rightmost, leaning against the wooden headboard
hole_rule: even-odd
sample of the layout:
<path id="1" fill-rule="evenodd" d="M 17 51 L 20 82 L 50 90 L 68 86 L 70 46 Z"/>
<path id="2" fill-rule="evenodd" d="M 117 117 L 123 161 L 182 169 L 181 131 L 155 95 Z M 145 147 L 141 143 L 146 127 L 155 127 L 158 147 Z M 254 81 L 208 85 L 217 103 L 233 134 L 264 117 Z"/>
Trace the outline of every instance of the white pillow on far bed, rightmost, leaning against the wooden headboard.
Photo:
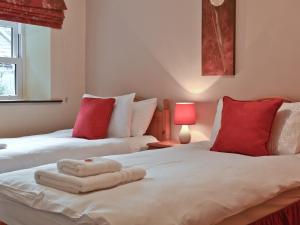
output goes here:
<path id="1" fill-rule="evenodd" d="M 146 133 L 156 107 L 156 98 L 133 103 L 131 136 L 142 136 Z"/>

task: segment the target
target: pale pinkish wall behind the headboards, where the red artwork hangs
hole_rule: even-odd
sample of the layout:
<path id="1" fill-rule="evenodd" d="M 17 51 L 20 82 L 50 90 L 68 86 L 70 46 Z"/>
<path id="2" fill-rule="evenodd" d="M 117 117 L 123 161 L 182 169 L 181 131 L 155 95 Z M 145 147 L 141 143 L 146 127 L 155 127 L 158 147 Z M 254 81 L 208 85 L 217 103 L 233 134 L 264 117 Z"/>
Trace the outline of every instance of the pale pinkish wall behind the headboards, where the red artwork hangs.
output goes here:
<path id="1" fill-rule="evenodd" d="M 87 91 L 198 101 L 194 140 L 216 100 L 300 99 L 300 1 L 237 1 L 237 75 L 201 76 L 201 0 L 88 0 Z"/>

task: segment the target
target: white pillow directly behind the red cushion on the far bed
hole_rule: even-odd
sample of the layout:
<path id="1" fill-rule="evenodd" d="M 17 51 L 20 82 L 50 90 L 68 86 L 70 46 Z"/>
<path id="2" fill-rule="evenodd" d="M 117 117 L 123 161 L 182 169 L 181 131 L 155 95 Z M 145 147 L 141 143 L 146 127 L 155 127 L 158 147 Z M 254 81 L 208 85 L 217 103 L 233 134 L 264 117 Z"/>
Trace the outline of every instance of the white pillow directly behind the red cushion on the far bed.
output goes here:
<path id="1" fill-rule="evenodd" d="M 124 138 L 130 137 L 131 118 L 135 93 L 112 97 L 116 99 L 114 111 L 108 128 L 108 137 Z M 83 98 L 102 98 L 85 94 Z"/>

